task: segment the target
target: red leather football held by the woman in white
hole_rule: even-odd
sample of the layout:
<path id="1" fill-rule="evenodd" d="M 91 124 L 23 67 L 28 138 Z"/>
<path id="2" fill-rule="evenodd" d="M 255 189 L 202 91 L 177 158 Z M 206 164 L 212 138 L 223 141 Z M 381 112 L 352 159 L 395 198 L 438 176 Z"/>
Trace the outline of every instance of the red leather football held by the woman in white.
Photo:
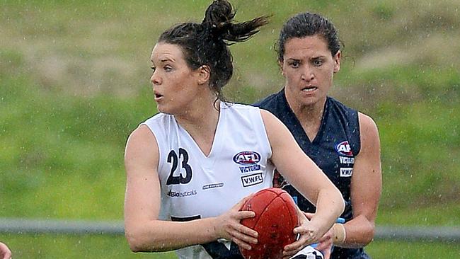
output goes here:
<path id="1" fill-rule="evenodd" d="M 292 232 L 297 226 L 296 205 L 292 197 L 279 188 L 255 192 L 240 210 L 251 210 L 255 217 L 241 220 L 241 224 L 258 232 L 258 243 L 251 250 L 240 248 L 246 259 L 282 258 L 284 246 L 296 240 Z"/>

